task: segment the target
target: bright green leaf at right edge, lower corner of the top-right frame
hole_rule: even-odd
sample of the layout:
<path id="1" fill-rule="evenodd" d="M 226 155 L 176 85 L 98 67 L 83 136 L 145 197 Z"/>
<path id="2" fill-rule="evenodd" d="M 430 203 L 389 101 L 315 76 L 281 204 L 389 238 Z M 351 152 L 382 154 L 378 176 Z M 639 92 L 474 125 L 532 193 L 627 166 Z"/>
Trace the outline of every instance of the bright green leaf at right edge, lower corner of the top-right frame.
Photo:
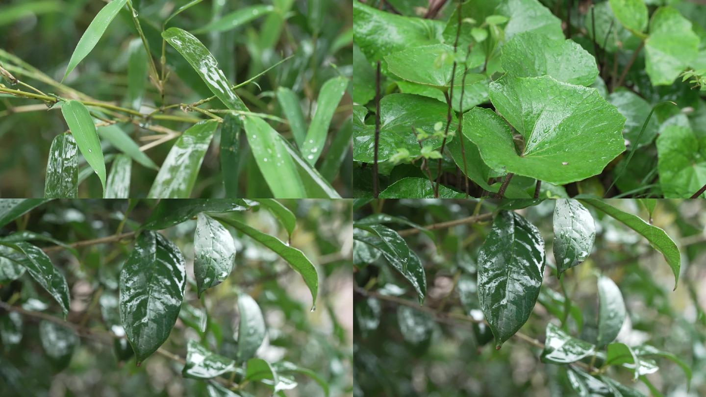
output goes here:
<path id="1" fill-rule="evenodd" d="M 689 198 L 706 184 L 703 142 L 700 145 L 688 127 L 670 125 L 662 129 L 657 137 L 657 170 L 665 198 Z"/>

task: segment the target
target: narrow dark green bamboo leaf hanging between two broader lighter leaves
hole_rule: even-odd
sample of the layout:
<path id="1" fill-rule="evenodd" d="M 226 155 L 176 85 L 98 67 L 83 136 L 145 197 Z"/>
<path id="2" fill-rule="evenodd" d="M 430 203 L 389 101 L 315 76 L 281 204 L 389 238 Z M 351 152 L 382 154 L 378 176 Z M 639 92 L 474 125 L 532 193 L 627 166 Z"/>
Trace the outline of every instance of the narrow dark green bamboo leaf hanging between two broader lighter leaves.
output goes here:
<path id="1" fill-rule="evenodd" d="M 240 148 L 241 127 L 242 123 L 235 114 L 228 113 L 223 117 L 220 163 L 226 197 L 237 197 L 239 195 L 239 162 L 241 155 L 243 155 L 243 150 Z"/>

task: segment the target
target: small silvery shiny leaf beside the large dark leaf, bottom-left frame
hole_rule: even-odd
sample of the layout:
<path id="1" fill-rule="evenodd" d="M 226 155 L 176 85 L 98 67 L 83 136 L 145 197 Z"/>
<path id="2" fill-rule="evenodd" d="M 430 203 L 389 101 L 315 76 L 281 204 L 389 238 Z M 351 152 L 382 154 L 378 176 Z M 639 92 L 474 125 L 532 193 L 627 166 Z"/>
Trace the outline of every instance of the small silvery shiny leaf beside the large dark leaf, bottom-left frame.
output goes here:
<path id="1" fill-rule="evenodd" d="M 193 237 L 193 275 L 198 297 L 222 283 L 233 271 L 234 261 L 235 243 L 230 232 L 217 220 L 199 213 Z"/>

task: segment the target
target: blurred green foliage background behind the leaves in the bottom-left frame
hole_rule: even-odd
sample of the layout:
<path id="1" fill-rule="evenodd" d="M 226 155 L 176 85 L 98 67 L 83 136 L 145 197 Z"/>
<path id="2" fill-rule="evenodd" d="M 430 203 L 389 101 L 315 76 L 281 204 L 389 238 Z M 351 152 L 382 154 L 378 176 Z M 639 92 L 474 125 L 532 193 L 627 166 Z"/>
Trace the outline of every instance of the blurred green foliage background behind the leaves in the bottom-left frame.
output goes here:
<path id="1" fill-rule="evenodd" d="M 140 201 L 128 216 L 124 231 L 135 230 L 155 201 Z M 239 316 L 237 290 L 260 305 L 267 336 L 257 357 L 268 362 L 292 362 L 311 369 L 330 388 L 330 396 L 352 391 L 352 249 L 350 201 L 282 201 L 297 215 L 291 245 L 306 254 L 319 274 L 316 310 L 299 273 L 270 249 L 233 233 L 237 248 L 234 271 L 223 283 L 196 296 L 193 279 L 193 237 L 196 220 L 164 230 L 186 259 L 188 285 L 177 324 L 162 348 L 186 357 L 186 342 L 205 335 L 210 350 L 235 357 Z M 76 242 L 113 235 L 128 206 L 126 200 L 58 200 L 30 211 L 20 221 L 0 229 L 0 236 L 17 227 Z M 287 232 L 264 209 L 243 211 L 242 220 L 287 241 Z M 35 242 L 40 247 L 50 242 Z M 119 293 L 118 275 L 132 244 L 97 244 L 78 249 L 78 260 L 66 250 L 50 254 L 68 280 L 71 312 L 68 321 L 97 332 L 109 329 L 110 302 Z M 0 283 L 0 299 L 32 312 L 61 317 L 58 304 L 29 275 Z M 204 316 L 203 307 L 208 316 Z M 17 325 L 0 313 L 0 396 L 206 396 L 205 382 L 181 376 L 184 365 L 162 355 L 150 356 L 140 367 L 121 358 L 123 350 L 91 338 L 80 338 L 68 360 L 48 355 L 38 321 L 20 316 Z M 14 320 L 14 318 L 13 318 Z M 202 324 L 205 324 L 203 331 Z M 61 338 L 57 341 L 60 344 Z M 297 374 L 286 396 L 324 396 L 311 377 Z M 251 382 L 241 396 L 270 396 L 271 387 Z M 225 396 L 225 394 L 224 394 Z"/>

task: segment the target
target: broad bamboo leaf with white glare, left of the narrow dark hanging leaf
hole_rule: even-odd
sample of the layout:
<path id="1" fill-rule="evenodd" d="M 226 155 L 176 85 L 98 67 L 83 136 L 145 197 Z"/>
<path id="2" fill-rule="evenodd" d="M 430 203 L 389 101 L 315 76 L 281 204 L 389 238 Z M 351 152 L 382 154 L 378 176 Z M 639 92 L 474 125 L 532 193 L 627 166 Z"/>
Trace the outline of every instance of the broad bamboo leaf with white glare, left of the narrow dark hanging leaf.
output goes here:
<path id="1" fill-rule="evenodd" d="M 179 136 L 160 172 L 157 172 L 148 198 L 189 198 L 196 183 L 201 162 L 213 139 L 218 123 L 213 120 L 198 122 Z"/>

